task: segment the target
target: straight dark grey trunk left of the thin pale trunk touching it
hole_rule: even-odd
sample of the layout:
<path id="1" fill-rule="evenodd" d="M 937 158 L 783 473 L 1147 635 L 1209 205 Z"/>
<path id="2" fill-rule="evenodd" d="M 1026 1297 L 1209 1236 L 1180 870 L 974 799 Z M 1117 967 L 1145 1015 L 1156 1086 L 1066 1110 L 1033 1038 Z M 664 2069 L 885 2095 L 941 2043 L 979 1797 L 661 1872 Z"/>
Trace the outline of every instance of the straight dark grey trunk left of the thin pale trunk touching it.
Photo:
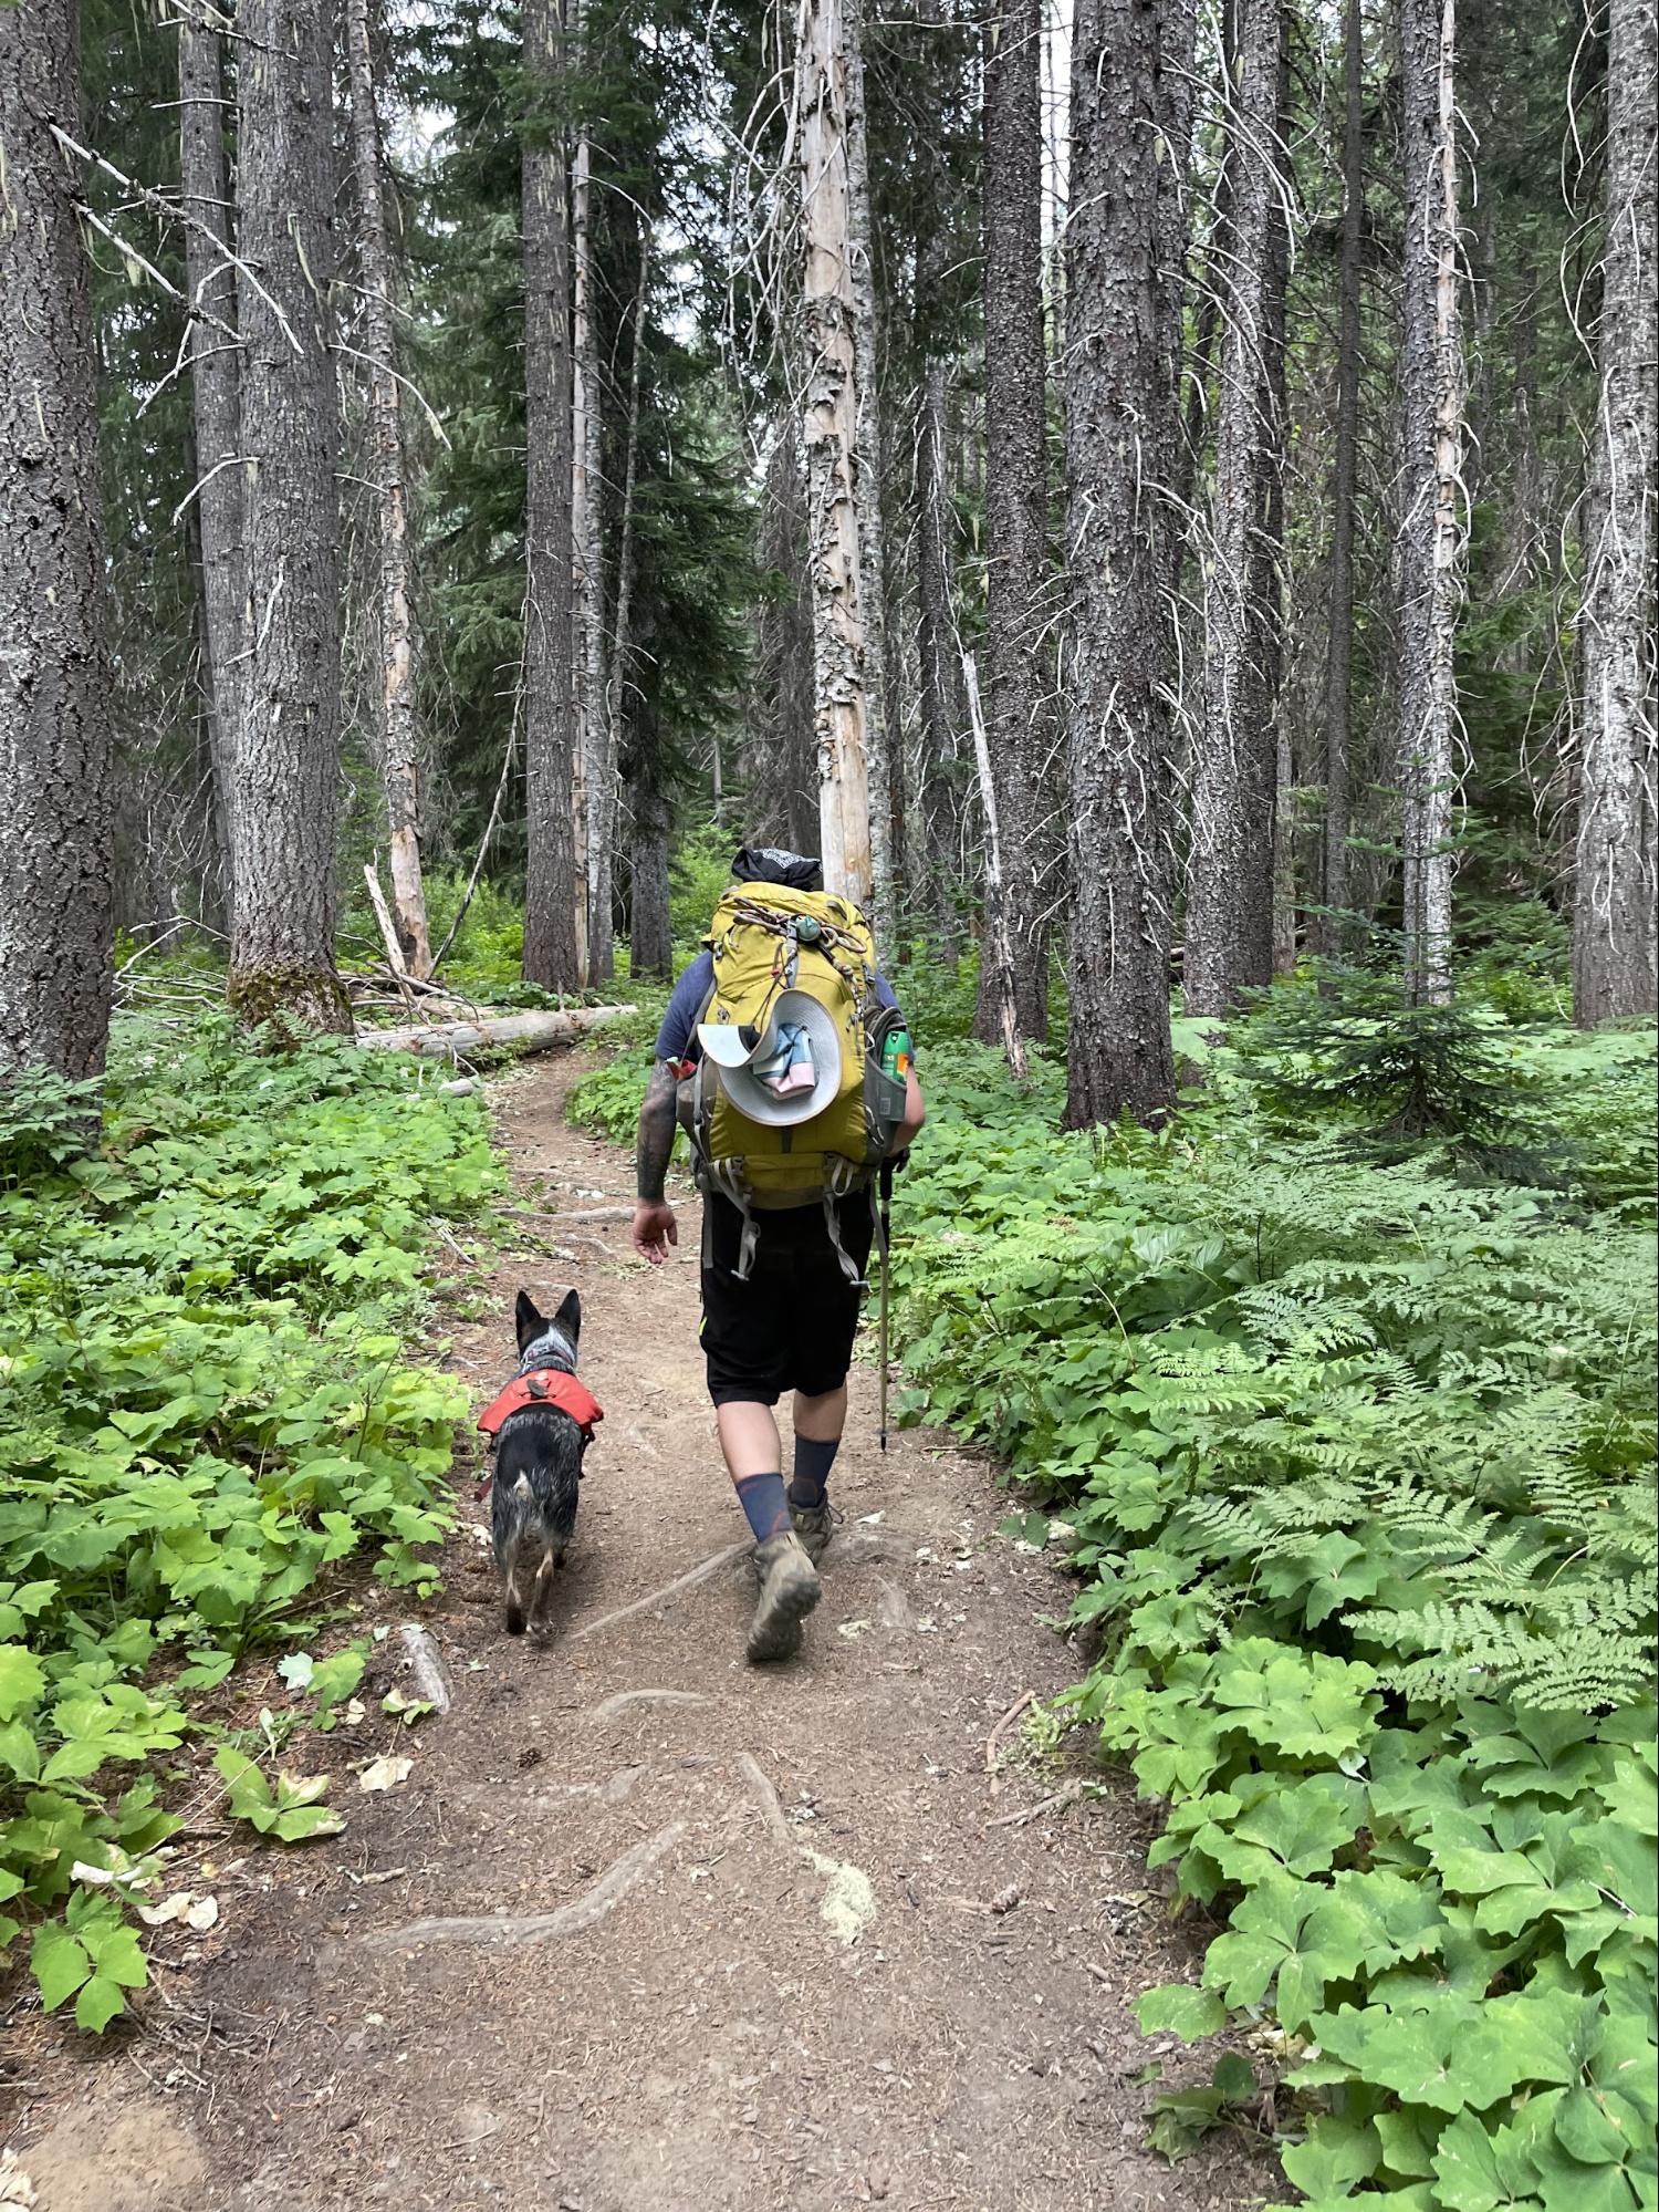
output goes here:
<path id="1" fill-rule="evenodd" d="M 524 0 L 524 73 L 542 113 L 524 137 L 524 980 L 549 991 L 582 989 L 575 936 L 577 836 L 573 783 L 575 544 L 571 529 L 571 241 L 564 135 L 557 104 L 564 73 L 560 0 Z M 551 113 L 549 113 L 551 111 Z"/>

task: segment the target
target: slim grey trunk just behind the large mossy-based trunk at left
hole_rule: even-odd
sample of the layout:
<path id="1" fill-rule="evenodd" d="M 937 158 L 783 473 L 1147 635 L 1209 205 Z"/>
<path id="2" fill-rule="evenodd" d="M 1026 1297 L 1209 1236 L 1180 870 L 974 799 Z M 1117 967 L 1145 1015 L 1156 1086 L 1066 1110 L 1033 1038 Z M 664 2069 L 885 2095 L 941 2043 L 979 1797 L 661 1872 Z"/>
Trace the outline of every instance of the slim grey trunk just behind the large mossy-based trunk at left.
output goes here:
<path id="1" fill-rule="evenodd" d="M 237 321 L 237 272 L 217 250 L 230 243 L 226 166 L 223 33 L 206 18 L 179 18 L 179 184 L 186 228 L 184 265 L 190 299 Z M 201 549 L 201 666 L 206 672 L 212 827 L 223 914 L 234 907 L 237 734 L 248 653 L 248 568 L 243 560 L 241 367 L 237 347 L 208 323 L 190 323 L 190 400 L 195 471 L 201 489 L 190 509 Z"/>

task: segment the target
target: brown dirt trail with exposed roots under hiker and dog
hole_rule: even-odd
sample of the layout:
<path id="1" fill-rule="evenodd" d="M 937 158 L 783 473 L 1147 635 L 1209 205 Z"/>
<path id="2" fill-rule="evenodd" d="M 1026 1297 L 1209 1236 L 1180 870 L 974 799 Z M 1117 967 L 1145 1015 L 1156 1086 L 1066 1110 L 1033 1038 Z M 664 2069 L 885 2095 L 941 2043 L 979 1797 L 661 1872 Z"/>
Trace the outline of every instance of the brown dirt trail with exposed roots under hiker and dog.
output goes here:
<path id="1" fill-rule="evenodd" d="M 564 1121 L 580 1068 L 491 1086 L 524 1210 L 628 1199 L 626 1157 Z M 1053 1626 L 1068 1586 L 998 1533 L 991 1469 L 918 1429 L 883 1458 L 876 1371 L 856 1369 L 825 1599 L 796 1661 L 748 1668 L 695 1199 L 661 1270 L 624 1219 L 524 1230 L 524 1252 L 458 1263 L 449 1363 L 487 1402 L 515 1290 L 580 1285 L 606 1425 L 555 1637 L 504 1637 L 467 1482 L 425 1608 L 449 1714 L 385 1723 L 372 1670 L 374 1717 L 292 1761 L 336 1767 L 345 1834 L 241 1863 L 226 1834 L 221 1920 L 175 1949 L 142 2024 L 38 2044 L 18 2132 L 38 2212 L 1261 2194 L 1237 2152 L 1168 2168 L 1146 2148 L 1139 2077 L 1166 2046 L 1128 2004 L 1194 1951 L 1144 1869 L 1150 1814 L 1117 1792 L 1044 1803 L 1064 1754 L 1015 1708 L 1077 1674 Z M 369 1595 L 372 1619 L 407 1610 Z M 338 1776 L 378 1752 L 414 1761 L 403 1787 Z M 449 1924 L 422 1933 L 431 1918 Z"/>

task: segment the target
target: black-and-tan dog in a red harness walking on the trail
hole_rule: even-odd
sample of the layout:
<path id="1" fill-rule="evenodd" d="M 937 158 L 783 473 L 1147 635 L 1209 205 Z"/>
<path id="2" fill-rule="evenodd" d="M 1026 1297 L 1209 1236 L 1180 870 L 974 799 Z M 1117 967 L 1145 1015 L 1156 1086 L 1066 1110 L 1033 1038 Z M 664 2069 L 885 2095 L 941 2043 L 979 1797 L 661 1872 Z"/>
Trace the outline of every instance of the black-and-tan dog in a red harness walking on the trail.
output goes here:
<path id="1" fill-rule="evenodd" d="M 575 1533 L 582 1460 L 604 1411 L 577 1383 L 582 1298 L 568 1292 L 549 1321 L 529 1292 L 513 1310 L 518 1376 L 480 1413 L 493 1440 L 489 1528 L 507 1599 L 507 1635 L 546 1632 L 553 1575 Z"/>

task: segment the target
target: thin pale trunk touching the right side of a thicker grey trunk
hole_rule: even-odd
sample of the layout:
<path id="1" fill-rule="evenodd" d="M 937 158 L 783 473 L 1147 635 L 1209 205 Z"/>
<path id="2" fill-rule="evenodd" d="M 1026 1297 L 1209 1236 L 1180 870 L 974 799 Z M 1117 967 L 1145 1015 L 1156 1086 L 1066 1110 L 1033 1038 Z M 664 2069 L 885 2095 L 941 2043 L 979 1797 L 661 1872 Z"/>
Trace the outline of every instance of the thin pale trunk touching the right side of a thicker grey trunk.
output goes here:
<path id="1" fill-rule="evenodd" d="M 599 931 L 597 807 L 604 772 L 604 403 L 599 334 L 593 319 L 593 139 L 582 128 L 571 164 L 571 243 L 575 250 L 575 321 L 571 332 L 571 544 L 575 551 L 575 836 L 580 883 L 575 936 L 582 973 L 593 980 Z M 606 940 L 611 931 L 604 931 Z"/>

